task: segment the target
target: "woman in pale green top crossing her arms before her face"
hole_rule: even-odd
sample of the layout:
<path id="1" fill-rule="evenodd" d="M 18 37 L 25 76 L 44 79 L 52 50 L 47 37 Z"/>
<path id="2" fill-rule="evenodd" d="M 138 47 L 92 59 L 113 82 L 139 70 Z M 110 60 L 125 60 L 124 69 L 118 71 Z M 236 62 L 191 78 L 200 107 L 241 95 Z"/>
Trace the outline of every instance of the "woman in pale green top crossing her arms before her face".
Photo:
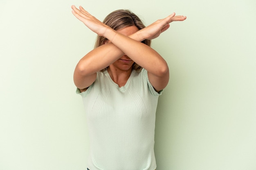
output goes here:
<path id="1" fill-rule="evenodd" d="M 154 131 L 158 96 L 169 80 L 166 61 L 150 40 L 184 16 L 145 27 L 128 10 L 103 22 L 82 7 L 72 13 L 98 38 L 76 65 L 74 83 L 83 98 L 90 136 L 90 170 L 155 170 Z"/>

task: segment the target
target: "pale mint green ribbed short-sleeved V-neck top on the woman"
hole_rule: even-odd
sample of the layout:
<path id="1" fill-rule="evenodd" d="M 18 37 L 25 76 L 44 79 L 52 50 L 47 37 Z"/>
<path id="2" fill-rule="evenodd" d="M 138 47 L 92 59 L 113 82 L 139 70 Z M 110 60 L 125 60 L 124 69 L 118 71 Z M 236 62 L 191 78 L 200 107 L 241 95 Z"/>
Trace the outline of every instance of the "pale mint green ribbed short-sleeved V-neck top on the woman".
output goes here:
<path id="1" fill-rule="evenodd" d="M 155 170 L 154 136 L 158 96 L 145 69 L 132 70 L 119 87 L 108 71 L 77 93 L 83 98 L 90 138 L 90 170 Z"/>

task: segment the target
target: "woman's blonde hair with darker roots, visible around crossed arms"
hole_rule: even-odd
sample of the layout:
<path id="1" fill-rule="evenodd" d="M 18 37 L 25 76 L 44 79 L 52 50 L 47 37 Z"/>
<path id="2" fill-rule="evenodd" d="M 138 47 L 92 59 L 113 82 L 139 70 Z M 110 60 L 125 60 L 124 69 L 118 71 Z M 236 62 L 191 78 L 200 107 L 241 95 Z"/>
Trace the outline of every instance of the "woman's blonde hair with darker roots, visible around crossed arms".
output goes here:
<path id="1" fill-rule="evenodd" d="M 135 15 L 127 9 L 119 9 L 113 11 L 112 13 L 106 16 L 106 18 L 103 20 L 103 23 L 109 26 L 110 28 L 114 29 L 115 31 L 121 30 L 122 28 L 125 28 L 127 26 L 136 26 L 139 30 L 146 27 L 137 15 Z M 108 39 L 106 39 L 105 37 L 97 36 L 94 48 L 102 46 L 106 43 L 107 40 Z M 146 44 L 147 46 L 150 46 L 151 44 L 150 39 L 145 39 L 141 42 Z M 134 63 L 132 68 L 137 72 L 140 72 L 142 69 L 142 67 L 139 66 L 137 63 Z M 106 68 L 101 71 L 104 70 L 106 70 Z"/>

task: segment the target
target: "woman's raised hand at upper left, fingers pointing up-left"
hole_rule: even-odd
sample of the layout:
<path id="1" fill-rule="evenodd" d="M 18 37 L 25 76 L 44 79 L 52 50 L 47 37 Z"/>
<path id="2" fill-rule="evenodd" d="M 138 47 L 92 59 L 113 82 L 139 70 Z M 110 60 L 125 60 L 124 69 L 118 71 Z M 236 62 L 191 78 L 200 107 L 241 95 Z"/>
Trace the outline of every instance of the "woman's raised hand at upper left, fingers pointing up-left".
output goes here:
<path id="1" fill-rule="evenodd" d="M 73 9 L 72 13 L 74 16 L 83 22 L 94 33 L 97 33 L 97 35 L 104 36 L 106 30 L 110 28 L 106 24 L 99 21 L 96 17 L 85 11 L 83 7 L 80 6 L 79 9 L 77 9 L 74 5 L 72 5 L 71 8 Z"/>

